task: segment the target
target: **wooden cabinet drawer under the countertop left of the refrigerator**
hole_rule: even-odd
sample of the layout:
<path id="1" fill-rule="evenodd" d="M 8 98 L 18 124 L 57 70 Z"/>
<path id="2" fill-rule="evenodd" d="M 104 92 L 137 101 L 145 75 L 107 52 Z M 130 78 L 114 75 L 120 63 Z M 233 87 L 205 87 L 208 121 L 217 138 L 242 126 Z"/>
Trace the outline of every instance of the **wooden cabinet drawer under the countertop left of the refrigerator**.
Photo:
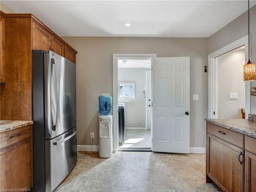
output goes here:
<path id="1" fill-rule="evenodd" d="M 32 136 L 32 125 L 0 134 L 0 148 L 22 141 Z"/>

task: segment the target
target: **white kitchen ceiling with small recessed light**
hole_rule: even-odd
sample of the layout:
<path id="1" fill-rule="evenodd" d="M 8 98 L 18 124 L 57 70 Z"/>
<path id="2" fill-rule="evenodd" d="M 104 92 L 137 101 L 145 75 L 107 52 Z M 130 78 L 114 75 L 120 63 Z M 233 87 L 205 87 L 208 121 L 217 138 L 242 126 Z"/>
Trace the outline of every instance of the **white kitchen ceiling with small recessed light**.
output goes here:
<path id="1" fill-rule="evenodd" d="M 245 0 L 1 2 L 60 36 L 209 37 L 247 10 Z"/>

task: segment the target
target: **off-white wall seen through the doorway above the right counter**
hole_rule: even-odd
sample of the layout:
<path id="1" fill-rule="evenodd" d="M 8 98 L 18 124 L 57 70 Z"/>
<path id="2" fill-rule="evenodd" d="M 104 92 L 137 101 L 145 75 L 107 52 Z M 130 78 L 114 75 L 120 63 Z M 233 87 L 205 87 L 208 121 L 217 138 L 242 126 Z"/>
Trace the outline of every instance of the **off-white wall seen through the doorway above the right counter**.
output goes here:
<path id="1" fill-rule="evenodd" d="M 245 108 L 244 62 L 244 49 L 218 57 L 218 118 L 220 119 L 241 118 L 241 108 Z M 229 99 L 229 93 L 238 93 L 238 99 Z"/>

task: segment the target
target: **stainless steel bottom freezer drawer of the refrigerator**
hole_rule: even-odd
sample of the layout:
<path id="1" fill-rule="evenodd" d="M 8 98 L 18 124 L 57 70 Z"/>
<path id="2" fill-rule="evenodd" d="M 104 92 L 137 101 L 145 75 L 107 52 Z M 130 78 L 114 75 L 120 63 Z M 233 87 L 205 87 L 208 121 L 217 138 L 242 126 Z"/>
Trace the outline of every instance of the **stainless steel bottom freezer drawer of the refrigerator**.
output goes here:
<path id="1" fill-rule="evenodd" d="M 45 141 L 46 191 L 53 191 L 71 172 L 77 162 L 76 127 Z"/>

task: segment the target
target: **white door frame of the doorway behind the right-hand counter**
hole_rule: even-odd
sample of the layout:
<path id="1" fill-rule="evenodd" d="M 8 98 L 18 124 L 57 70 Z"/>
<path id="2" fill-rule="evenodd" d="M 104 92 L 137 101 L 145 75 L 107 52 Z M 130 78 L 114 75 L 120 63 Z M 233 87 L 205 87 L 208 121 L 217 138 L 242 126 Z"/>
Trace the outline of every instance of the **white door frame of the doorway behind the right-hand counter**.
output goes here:
<path id="1" fill-rule="evenodd" d="M 248 60 L 248 35 L 208 55 L 208 118 L 218 118 L 218 59 L 217 57 L 245 46 L 245 63 Z M 242 69 L 241 69 L 242 70 Z M 250 113 L 250 82 L 245 82 L 245 118 Z M 214 111 L 216 111 L 214 115 Z"/>

